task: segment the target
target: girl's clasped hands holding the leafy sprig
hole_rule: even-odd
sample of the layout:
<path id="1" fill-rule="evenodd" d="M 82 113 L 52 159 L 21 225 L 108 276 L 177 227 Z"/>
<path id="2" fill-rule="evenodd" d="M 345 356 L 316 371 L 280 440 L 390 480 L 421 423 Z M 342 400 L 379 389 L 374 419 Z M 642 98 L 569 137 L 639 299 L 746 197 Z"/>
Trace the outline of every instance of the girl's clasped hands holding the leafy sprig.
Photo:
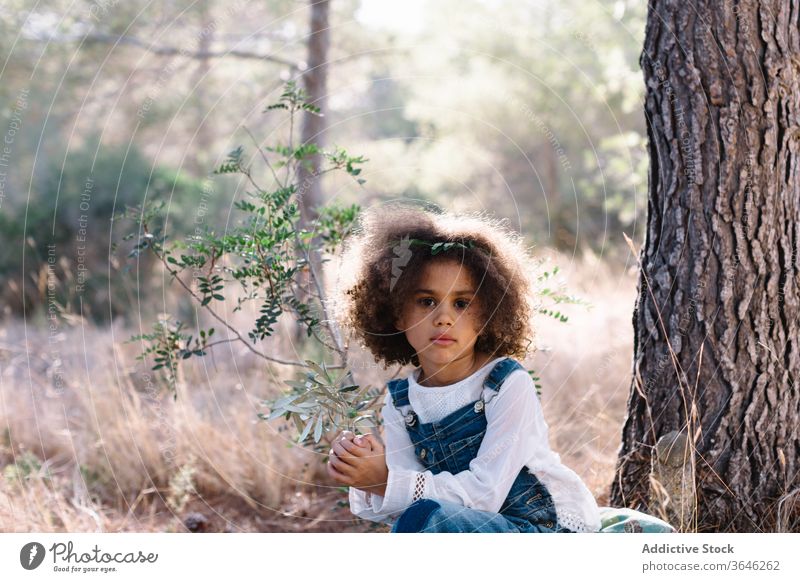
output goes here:
<path id="1" fill-rule="evenodd" d="M 333 443 L 328 474 L 344 485 L 384 495 L 389 478 L 385 449 L 373 434 L 356 437 L 345 431 Z"/>

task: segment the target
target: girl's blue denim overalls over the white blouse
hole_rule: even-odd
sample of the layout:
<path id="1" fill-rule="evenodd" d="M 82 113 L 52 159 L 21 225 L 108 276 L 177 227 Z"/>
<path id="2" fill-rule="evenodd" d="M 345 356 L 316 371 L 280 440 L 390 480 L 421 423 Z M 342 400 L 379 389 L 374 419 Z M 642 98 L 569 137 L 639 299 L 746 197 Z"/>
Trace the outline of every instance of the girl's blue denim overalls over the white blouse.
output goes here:
<path id="1" fill-rule="evenodd" d="M 484 388 L 499 392 L 514 370 L 524 369 L 512 358 L 495 364 Z M 436 422 L 422 423 L 411 409 L 408 379 L 388 383 L 395 408 L 404 414 L 406 429 L 420 463 L 432 473 L 453 475 L 469 470 L 486 434 L 483 392 L 481 398 L 453 411 Z M 497 451 L 503 454 L 503 451 Z M 392 532 L 563 532 L 558 524 L 550 492 L 523 467 L 517 475 L 499 513 L 468 508 L 437 499 L 418 499 L 408 506 L 392 526 Z"/>

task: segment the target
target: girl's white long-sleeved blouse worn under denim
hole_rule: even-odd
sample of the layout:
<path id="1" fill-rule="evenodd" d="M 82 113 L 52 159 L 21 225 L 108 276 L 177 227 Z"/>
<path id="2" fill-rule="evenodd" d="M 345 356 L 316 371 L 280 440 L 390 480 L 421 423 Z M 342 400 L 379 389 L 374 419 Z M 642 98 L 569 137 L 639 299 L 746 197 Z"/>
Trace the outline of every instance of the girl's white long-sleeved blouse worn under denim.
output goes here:
<path id="1" fill-rule="evenodd" d="M 523 466 L 547 487 L 560 525 L 576 532 L 600 529 L 597 502 L 581 478 L 561 463 L 550 449 L 536 387 L 526 370 L 514 370 L 499 392 L 483 388 L 495 358 L 472 375 L 446 386 L 417 384 L 419 368 L 408 376 L 411 408 L 423 423 L 435 422 L 478 400 L 484 392 L 486 434 L 469 470 L 456 475 L 433 474 L 414 454 L 405 421 L 387 390 L 382 408 L 386 465 L 389 469 L 384 496 L 350 487 L 350 511 L 363 519 L 393 522 L 420 498 L 454 501 L 465 507 L 499 512 Z M 504 453 L 498 455 L 497 451 Z"/>

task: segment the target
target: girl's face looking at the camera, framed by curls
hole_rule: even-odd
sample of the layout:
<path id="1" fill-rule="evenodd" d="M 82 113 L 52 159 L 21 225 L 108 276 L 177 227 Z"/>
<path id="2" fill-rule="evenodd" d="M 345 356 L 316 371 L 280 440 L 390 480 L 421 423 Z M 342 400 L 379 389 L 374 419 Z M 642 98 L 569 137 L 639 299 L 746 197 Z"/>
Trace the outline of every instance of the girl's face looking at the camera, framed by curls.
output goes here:
<path id="1" fill-rule="evenodd" d="M 438 369 L 471 358 L 482 322 L 469 270 L 452 260 L 431 262 L 416 287 L 395 325 L 405 332 L 422 368 Z"/>

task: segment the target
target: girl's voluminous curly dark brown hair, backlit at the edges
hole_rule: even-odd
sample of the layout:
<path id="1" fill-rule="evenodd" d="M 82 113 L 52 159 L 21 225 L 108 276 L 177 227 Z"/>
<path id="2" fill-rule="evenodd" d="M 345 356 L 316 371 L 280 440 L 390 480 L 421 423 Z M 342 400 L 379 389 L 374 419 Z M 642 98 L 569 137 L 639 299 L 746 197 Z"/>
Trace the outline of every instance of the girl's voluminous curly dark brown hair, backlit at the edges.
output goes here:
<path id="1" fill-rule="evenodd" d="M 345 241 L 332 302 L 335 317 L 376 361 L 419 366 L 414 348 L 394 322 L 422 267 L 447 260 L 466 267 L 477 284 L 482 331 L 475 350 L 524 359 L 533 345 L 533 261 L 505 221 L 481 214 L 397 203 L 364 211 Z"/>

